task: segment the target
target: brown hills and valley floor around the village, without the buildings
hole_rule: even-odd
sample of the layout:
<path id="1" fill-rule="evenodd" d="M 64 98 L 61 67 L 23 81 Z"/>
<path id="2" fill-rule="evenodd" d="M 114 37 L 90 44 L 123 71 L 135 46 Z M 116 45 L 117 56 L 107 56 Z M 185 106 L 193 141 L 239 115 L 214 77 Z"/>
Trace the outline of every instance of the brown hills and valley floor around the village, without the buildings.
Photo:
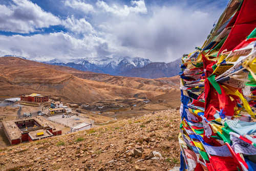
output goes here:
<path id="1" fill-rule="evenodd" d="M 0 69 L 3 71 L 0 73 L 0 101 L 38 93 L 48 95 L 51 101 L 59 99 L 63 105 L 78 106 L 71 108 L 71 120 L 61 116 L 44 116 L 64 135 L 74 124 L 91 122 L 93 127 L 99 127 L 157 111 L 176 110 L 180 104 L 178 76 L 157 79 L 112 76 L 19 57 L 1 57 Z M 44 111 L 44 106 L 49 105 L 28 104 L 16 102 L 0 106 L 1 121 L 15 120 L 24 113 L 37 117 L 37 111 Z M 79 121 L 71 123 L 73 120 Z M 0 146 L 9 146 L 3 131 L 1 135 Z"/>

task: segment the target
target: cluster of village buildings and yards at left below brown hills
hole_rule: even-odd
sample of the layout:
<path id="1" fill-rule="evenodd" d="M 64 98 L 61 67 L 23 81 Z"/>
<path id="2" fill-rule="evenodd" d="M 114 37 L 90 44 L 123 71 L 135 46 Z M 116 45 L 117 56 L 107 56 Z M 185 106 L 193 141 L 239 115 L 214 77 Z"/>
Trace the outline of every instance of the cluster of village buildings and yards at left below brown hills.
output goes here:
<path id="1" fill-rule="evenodd" d="M 80 112 L 77 104 L 64 105 L 60 98 L 50 99 L 48 95 L 33 93 L 5 99 L 5 102 L 18 103 L 16 119 L 2 121 L 3 131 L 11 145 L 93 127 L 94 120 L 74 112 Z M 34 111 L 21 113 L 20 109 L 25 105 Z"/>

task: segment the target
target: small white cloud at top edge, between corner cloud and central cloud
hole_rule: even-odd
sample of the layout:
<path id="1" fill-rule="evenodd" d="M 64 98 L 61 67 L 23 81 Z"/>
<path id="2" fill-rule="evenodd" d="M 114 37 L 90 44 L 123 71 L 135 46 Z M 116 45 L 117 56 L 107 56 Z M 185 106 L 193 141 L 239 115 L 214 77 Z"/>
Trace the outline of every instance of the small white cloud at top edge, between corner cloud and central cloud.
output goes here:
<path id="1" fill-rule="evenodd" d="M 94 11 L 94 8 L 91 4 L 86 4 L 79 0 L 67 0 L 67 1 L 65 1 L 65 6 L 69 6 L 71 8 L 81 10 L 84 13 Z"/>

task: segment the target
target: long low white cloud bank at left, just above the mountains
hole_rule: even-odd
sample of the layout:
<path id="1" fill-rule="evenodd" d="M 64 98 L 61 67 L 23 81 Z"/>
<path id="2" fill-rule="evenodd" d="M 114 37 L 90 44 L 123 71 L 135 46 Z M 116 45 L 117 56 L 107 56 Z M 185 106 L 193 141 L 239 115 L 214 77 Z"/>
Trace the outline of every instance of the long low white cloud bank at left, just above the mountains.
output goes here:
<path id="1" fill-rule="evenodd" d="M 96 47 L 104 40 L 90 35 L 77 39 L 68 33 L 36 34 L 32 36 L 0 35 L 0 55 L 14 54 L 36 60 L 97 56 Z"/>

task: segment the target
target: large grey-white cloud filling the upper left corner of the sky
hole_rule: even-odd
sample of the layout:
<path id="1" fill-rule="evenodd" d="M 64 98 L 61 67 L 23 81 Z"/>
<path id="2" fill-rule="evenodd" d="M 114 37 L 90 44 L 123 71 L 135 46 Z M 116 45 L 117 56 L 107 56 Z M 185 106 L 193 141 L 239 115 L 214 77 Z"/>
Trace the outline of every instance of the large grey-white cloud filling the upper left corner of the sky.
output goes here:
<path id="1" fill-rule="evenodd" d="M 29 33 L 38 28 L 59 25 L 60 19 L 27 0 L 13 0 L 10 6 L 0 5 L 0 30 Z"/>

